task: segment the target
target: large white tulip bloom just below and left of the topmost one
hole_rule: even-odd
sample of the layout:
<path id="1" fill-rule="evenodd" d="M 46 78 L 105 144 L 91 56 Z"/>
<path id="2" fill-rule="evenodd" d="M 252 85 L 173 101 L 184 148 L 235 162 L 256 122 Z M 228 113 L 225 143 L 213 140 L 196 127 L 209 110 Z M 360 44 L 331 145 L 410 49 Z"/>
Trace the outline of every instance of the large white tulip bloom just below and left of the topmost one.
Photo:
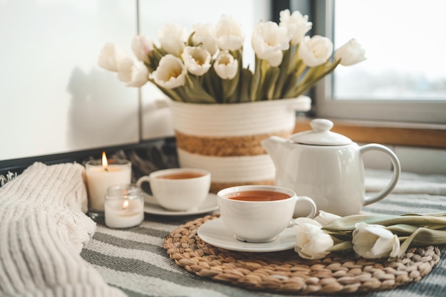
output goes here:
<path id="1" fill-rule="evenodd" d="M 276 67 L 282 63 L 282 58 L 284 58 L 282 51 L 289 48 L 290 38 L 285 27 L 279 27 L 276 23 L 267 21 L 256 25 L 252 33 L 251 45 L 258 58 Z"/>

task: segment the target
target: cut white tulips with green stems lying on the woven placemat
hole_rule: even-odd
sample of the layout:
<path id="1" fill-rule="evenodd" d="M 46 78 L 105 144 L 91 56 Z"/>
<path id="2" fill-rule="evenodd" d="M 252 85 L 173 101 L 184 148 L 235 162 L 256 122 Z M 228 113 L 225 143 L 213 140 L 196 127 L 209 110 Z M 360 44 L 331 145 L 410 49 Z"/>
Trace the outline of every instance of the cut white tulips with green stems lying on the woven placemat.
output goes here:
<path id="1" fill-rule="evenodd" d="M 365 259 L 393 261 L 409 246 L 446 244 L 446 213 L 339 217 L 321 211 L 314 219 L 295 221 L 294 250 L 304 259 L 322 259 L 332 251 L 353 249 Z"/>

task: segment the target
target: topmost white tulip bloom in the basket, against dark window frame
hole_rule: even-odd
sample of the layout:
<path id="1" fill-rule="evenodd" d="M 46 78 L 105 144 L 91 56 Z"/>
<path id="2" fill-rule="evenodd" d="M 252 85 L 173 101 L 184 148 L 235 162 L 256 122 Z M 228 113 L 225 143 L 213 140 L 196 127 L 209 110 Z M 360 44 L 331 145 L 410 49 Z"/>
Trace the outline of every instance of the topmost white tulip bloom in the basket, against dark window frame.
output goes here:
<path id="1" fill-rule="evenodd" d="M 289 9 L 280 12 L 279 26 L 284 26 L 291 34 L 291 44 L 298 44 L 304 39 L 305 34 L 311 30 L 313 23 L 308 21 L 308 16 L 302 16 L 299 11 L 294 11 L 290 14 Z"/>

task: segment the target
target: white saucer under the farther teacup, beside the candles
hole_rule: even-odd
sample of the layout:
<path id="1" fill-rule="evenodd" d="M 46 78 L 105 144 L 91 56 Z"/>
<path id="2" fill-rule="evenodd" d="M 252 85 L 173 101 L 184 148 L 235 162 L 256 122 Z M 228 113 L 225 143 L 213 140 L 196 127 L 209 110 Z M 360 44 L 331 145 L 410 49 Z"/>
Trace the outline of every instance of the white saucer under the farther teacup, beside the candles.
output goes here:
<path id="1" fill-rule="evenodd" d="M 161 207 L 159 204 L 157 204 L 155 197 L 147 193 L 142 193 L 142 196 L 144 197 L 144 212 L 147 212 L 147 214 L 158 214 L 161 216 L 192 216 L 194 214 L 214 212 L 218 209 L 217 195 L 213 193 L 207 194 L 206 200 L 204 200 L 204 202 L 198 207 L 180 212 Z"/>

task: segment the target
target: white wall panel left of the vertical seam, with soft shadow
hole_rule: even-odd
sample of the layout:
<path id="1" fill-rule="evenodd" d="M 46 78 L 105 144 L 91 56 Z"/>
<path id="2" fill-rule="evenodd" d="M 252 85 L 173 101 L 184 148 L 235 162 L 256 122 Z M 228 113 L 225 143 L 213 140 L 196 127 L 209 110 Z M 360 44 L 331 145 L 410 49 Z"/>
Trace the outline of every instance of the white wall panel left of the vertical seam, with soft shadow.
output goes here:
<path id="1" fill-rule="evenodd" d="M 0 1 L 0 160 L 138 142 L 138 93 L 96 66 L 135 1 Z"/>

